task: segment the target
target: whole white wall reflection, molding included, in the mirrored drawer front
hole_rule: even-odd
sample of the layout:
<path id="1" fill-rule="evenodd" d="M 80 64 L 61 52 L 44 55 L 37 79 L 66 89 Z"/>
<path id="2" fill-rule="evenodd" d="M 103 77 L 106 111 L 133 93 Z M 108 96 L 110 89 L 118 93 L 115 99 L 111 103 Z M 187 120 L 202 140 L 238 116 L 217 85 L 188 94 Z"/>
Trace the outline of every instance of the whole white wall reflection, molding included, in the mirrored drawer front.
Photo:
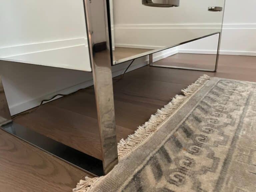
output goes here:
<path id="1" fill-rule="evenodd" d="M 179 7 L 143 6 L 141 0 L 114 0 L 115 45 L 159 48 L 219 32 L 222 12 L 209 12 L 224 0 L 180 1 Z"/>

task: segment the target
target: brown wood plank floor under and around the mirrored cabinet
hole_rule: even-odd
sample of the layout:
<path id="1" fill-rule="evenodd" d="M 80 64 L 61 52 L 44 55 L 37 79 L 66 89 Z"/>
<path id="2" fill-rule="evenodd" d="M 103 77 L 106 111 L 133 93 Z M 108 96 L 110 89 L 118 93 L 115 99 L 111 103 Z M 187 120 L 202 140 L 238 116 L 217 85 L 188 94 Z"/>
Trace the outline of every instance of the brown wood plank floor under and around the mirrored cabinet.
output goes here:
<path id="1" fill-rule="evenodd" d="M 212 66 L 205 55 L 194 54 L 176 54 L 156 64 L 173 59 L 193 66 L 196 61 L 201 65 L 203 60 L 205 65 Z M 114 80 L 118 141 L 132 134 L 151 114 L 203 74 L 256 81 L 256 57 L 221 55 L 216 73 L 145 66 L 125 74 L 121 80 Z M 15 122 L 101 158 L 93 87 L 44 104 Z M 71 191 L 85 175 L 0 130 L 0 192 Z"/>

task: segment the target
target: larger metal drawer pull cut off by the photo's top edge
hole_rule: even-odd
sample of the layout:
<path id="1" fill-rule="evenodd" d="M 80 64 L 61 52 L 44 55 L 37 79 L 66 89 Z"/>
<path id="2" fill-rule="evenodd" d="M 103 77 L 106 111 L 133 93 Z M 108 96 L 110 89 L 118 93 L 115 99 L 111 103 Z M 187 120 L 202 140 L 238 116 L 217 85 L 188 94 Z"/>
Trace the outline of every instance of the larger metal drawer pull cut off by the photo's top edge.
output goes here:
<path id="1" fill-rule="evenodd" d="M 142 0 L 142 4 L 149 7 L 178 7 L 180 0 Z"/>

